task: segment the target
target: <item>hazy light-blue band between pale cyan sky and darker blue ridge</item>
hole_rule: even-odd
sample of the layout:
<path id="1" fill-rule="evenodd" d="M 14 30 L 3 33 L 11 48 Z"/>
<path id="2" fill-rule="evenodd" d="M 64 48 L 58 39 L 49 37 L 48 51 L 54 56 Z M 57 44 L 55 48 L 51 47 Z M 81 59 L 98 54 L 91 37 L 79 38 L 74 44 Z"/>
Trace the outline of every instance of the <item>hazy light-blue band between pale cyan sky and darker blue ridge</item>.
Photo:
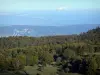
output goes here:
<path id="1" fill-rule="evenodd" d="M 63 26 L 100 24 L 99 13 L 100 10 L 2 13 L 0 15 L 0 25 Z"/>

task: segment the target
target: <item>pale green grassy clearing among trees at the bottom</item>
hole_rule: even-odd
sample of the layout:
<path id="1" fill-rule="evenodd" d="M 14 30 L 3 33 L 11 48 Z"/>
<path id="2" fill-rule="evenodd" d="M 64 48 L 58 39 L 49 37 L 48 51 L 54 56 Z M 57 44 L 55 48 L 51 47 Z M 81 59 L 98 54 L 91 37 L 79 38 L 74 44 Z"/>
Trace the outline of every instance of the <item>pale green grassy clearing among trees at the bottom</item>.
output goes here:
<path id="1" fill-rule="evenodd" d="M 57 72 L 57 67 L 52 67 L 52 66 L 47 66 L 44 67 L 43 71 L 38 71 L 38 66 L 26 66 L 25 67 L 25 71 L 29 74 L 29 75 L 36 75 L 37 73 L 41 74 L 41 75 L 56 75 Z"/>

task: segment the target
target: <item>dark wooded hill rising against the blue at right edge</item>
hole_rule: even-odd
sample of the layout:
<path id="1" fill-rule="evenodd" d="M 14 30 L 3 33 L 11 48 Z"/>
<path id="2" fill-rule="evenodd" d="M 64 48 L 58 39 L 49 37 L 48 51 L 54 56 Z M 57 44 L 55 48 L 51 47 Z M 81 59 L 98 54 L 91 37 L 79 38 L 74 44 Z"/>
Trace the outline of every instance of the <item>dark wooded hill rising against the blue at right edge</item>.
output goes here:
<path id="1" fill-rule="evenodd" d="M 80 34 L 81 40 L 94 42 L 94 44 L 100 45 L 100 27 L 97 27 L 96 29 L 89 30 L 86 33 Z"/>

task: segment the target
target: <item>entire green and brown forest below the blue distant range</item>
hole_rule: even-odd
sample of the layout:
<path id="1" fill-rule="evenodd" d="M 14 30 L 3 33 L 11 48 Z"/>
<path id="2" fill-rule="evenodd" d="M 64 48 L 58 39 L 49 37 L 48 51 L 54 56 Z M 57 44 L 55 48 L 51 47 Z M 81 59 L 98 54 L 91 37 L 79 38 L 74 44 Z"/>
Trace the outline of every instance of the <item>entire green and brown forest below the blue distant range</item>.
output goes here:
<path id="1" fill-rule="evenodd" d="M 0 37 L 0 75 L 100 75 L 100 27 L 79 35 Z"/>

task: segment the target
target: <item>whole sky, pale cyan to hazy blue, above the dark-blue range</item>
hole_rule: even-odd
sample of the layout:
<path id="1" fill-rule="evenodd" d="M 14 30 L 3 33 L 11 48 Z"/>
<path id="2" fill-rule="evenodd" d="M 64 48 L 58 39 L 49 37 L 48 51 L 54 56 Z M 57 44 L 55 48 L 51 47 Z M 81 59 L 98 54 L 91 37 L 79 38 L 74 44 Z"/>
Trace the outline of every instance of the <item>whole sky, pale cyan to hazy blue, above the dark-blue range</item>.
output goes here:
<path id="1" fill-rule="evenodd" d="M 0 0 L 0 26 L 72 24 L 100 24 L 100 0 Z"/>

